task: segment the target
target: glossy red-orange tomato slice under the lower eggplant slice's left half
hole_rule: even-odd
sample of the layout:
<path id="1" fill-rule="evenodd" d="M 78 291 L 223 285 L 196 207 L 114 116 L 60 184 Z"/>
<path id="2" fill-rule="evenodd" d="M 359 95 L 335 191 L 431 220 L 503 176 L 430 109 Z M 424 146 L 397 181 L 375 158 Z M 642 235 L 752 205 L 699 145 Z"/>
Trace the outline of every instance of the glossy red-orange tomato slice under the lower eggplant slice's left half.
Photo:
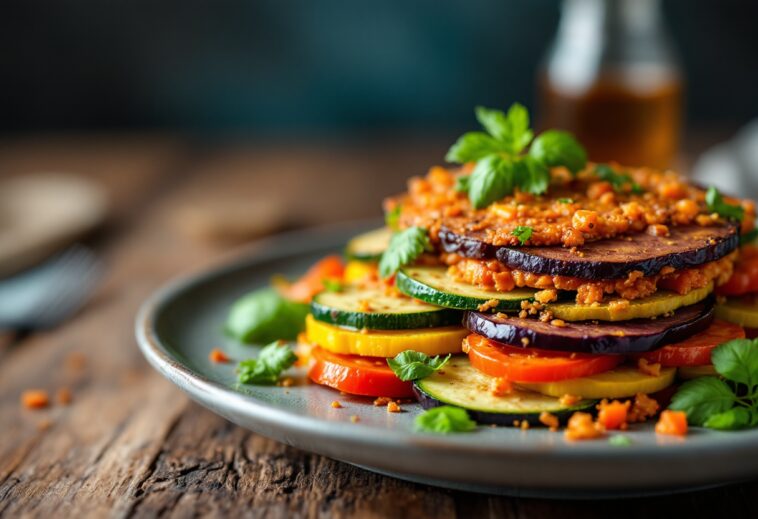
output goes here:
<path id="1" fill-rule="evenodd" d="M 508 346 L 469 335 L 464 343 L 471 365 L 492 377 L 511 382 L 553 382 L 587 377 L 615 368 L 621 355 L 591 355 Z"/>

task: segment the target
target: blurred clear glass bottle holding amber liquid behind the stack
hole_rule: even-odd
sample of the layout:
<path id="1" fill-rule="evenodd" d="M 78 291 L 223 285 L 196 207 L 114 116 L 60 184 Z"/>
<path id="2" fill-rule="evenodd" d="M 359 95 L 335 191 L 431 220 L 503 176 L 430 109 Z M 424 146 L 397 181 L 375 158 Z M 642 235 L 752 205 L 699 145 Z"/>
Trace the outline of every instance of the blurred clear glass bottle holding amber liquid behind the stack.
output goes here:
<path id="1" fill-rule="evenodd" d="M 538 81 L 542 126 L 574 133 L 590 160 L 672 165 L 683 87 L 659 0 L 564 0 Z"/>

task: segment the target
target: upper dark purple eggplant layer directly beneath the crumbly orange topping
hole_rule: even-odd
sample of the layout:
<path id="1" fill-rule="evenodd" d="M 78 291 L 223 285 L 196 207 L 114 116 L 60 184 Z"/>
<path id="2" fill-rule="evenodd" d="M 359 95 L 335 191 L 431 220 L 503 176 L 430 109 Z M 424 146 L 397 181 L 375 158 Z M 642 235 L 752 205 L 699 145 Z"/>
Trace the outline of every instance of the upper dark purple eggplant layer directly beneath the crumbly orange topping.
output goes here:
<path id="1" fill-rule="evenodd" d="M 557 246 L 496 246 L 485 241 L 481 231 L 461 235 L 443 227 L 439 238 L 445 252 L 473 259 L 496 258 L 508 267 L 535 274 L 582 279 L 618 279 L 633 271 L 652 276 L 666 266 L 677 270 L 695 267 L 739 246 L 738 227 L 733 222 L 718 227 L 672 226 L 665 237 L 638 233 L 589 242 L 581 248 L 581 256 Z"/>

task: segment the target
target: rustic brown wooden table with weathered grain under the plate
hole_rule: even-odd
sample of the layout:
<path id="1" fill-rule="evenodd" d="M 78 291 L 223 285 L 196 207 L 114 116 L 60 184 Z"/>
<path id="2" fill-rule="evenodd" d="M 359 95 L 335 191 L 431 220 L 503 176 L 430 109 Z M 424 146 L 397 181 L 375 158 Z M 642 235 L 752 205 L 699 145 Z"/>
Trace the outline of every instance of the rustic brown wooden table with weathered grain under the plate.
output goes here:
<path id="1" fill-rule="evenodd" d="M 0 336 L 0 516 L 755 516 L 756 483 L 598 502 L 406 483 L 237 427 L 190 402 L 146 364 L 132 330 L 140 302 L 169 278 L 234 254 L 193 237 L 182 215 L 200 214 L 201 228 L 210 219 L 224 232 L 223 218 L 214 215 L 226 214 L 226 206 L 265 208 L 272 200 L 289 210 L 262 210 L 259 223 L 268 229 L 379 216 L 381 199 L 443 152 L 439 143 L 408 141 L 1 142 L 0 175 L 80 173 L 106 187 L 113 211 L 91 238 L 108 264 L 94 299 L 54 331 Z M 19 395 L 37 387 L 51 394 L 69 388 L 72 401 L 22 408 Z"/>

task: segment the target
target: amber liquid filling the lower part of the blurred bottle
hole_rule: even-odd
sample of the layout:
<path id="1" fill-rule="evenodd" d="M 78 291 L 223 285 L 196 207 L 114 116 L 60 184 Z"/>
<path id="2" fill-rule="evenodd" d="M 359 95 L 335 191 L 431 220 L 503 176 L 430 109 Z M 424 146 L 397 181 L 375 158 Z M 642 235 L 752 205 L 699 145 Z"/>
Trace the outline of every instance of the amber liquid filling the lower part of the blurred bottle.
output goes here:
<path id="1" fill-rule="evenodd" d="M 676 77 L 640 86 L 600 75 L 580 93 L 540 81 L 542 126 L 572 132 L 594 162 L 668 168 L 679 146 L 682 86 Z"/>

